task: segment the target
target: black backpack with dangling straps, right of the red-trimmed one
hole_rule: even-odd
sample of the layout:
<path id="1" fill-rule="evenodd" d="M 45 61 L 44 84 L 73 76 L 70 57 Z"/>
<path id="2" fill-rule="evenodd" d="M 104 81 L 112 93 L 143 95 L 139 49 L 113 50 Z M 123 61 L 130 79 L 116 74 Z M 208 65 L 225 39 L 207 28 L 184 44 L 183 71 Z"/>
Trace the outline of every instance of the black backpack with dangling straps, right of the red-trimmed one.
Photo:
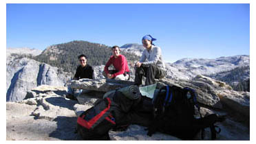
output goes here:
<path id="1" fill-rule="evenodd" d="M 211 128 L 211 138 L 215 139 L 220 129 L 215 130 L 217 126 L 214 123 L 223 119 L 215 114 L 202 117 L 196 97 L 192 88 L 168 85 L 160 88 L 152 100 L 154 119 L 147 134 L 151 136 L 154 132 L 164 132 L 180 139 L 193 139 L 202 131 L 204 139 L 204 128 Z M 199 118 L 195 118 L 195 110 L 198 110 Z"/>

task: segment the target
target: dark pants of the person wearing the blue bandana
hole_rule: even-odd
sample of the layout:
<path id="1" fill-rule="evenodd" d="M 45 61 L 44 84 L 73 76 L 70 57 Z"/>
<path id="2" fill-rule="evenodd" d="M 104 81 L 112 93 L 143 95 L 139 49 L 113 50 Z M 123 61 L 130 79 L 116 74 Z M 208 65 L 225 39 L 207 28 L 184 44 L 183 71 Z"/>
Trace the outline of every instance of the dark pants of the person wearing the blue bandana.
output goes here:
<path id="1" fill-rule="evenodd" d="M 145 85 L 147 86 L 153 84 L 155 79 L 161 79 L 165 77 L 165 75 L 167 75 L 167 73 L 158 68 L 155 64 L 149 64 L 148 66 L 142 64 L 140 67 L 136 68 L 134 84 L 137 86 L 142 84 L 142 77 L 145 76 L 147 77 L 145 82 Z"/>

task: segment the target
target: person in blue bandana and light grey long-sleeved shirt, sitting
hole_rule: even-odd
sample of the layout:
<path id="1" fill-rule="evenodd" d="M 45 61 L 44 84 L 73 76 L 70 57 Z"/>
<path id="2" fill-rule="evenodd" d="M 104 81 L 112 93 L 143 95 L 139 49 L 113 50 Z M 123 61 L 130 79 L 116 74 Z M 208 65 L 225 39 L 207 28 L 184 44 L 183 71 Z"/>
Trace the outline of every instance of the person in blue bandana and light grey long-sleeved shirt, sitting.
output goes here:
<path id="1" fill-rule="evenodd" d="M 140 61 L 135 64 L 134 85 L 142 85 L 142 76 L 147 77 L 145 81 L 145 85 L 147 86 L 153 84 L 155 78 L 161 79 L 167 75 L 161 49 L 153 45 L 153 40 L 156 40 L 156 38 L 152 38 L 150 35 L 143 36 L 142 38 L 142 44 L 145 50 L 142 52 Z"/>

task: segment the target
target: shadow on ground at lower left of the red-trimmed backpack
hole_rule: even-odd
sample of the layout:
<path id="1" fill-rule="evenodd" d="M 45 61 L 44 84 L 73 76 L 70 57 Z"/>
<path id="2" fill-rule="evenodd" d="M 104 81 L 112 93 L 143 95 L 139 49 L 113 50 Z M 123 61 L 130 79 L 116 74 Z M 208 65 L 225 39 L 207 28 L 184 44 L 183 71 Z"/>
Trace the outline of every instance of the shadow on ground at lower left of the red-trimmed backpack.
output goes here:
<path id="1" fill-rule="evenodd" d="M 76 117 L 59 116 L 54 119 L 57 128 L 49 136 L 60 140 L 83 140 L 76 133 Z"/>

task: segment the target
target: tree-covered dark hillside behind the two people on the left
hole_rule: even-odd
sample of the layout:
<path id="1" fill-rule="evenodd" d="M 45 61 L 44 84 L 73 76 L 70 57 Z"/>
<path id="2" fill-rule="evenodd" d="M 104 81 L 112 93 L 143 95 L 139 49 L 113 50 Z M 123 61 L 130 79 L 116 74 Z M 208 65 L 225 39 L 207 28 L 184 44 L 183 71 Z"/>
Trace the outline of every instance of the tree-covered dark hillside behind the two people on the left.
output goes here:
<path id="1" fill-rule="evenodd" d="M 70 43 L 52 45 L 45 49 L 39 56 L 32 57 L 39 62 L 45 62 L 53 67 L 61 68 L 65 72 L 75 73 L 79 65 L 78 56 L 87 56 L 87 64 L 92 66 L 105 65 L 111 56 L 111 47 L 83 40 L 74 40 Z M 120 52 L 128 61 L 139 60 L 138 56 L 131 53 Z"/>

